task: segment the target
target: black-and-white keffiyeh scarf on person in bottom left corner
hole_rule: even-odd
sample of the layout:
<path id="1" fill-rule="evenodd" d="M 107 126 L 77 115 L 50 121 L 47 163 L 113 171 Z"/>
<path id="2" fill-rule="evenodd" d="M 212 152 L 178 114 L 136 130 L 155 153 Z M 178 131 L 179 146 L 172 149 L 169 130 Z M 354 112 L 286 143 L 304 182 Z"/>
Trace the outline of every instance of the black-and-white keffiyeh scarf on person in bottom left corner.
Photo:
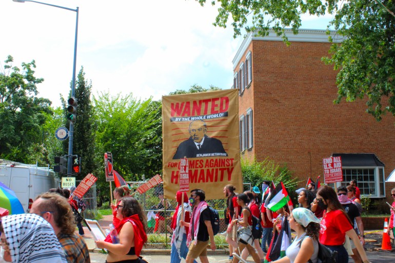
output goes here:
<path id="1" fill-rule="evenodd" d="M 43 217 L 36 214 L 8 215 L 1 222 L 12 262 L 67 262 L 51 225 Z"/>

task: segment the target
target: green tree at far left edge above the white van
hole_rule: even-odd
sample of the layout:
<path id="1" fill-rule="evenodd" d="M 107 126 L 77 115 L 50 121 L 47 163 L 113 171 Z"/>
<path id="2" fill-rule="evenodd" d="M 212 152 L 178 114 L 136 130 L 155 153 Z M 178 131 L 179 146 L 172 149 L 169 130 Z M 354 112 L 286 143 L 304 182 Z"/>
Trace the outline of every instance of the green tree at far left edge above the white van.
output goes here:
<path id="1" fill-rule="evenodd" d="M 0 72 L 0 158 L 22 163 L 43 164 L 45 124 L 52 115 L 51 101 L 37 97 L 35 61 L 22 63 L 22 71 L 12 66 L 13 57 L 5 60 Z"/>

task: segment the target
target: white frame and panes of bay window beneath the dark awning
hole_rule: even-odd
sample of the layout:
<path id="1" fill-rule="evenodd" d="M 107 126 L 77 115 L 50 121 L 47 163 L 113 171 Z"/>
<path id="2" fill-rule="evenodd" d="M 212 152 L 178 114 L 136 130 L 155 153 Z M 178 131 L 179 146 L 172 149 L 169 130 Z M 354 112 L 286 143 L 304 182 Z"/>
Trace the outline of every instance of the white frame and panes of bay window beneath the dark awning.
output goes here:
<path id="1" fill-rule="evenodd" d="M 342 167 L 343 170 L 343 181 L 336 183 L 336 187 L 340 186 L 348 186 L 350 184 L 350 180 L 354 179 L 351 178 L 350 180 L 344 180 L 346 178 L 346 175 L 344 174 L 344 170 L 350 170 L 350 169 L 356 169 L 356 170 L 364 170 L 364 169 L 373 169 L 374 170 L 374 182 L 372 181 L 360 181 L 357 179 L 357 184 L 363 184 L 363 183 L 374 183 L 374 192 L 376 194 L 372 194 L 370 197 L 376 197 L 376 198 L 382 198 L 385 197 L 385 171 L 384 167 L 382 166 L 373 166 L 373 167 L 365 167 L 365 166 L 360 166 L 360 167 Z M 382 174 L 382 179 L 380 180 L 380 169 L 383 169 L 383 174 Z M 349 175 L 348 175 L 349 176 Z M 383 184 L 383 190 L 380 190 L 380 184 Z M 366 196 L 369 197 L 369 195 L 364 195 L 363 194 L 363 187 L 361 187 L 361 196 Z"/>

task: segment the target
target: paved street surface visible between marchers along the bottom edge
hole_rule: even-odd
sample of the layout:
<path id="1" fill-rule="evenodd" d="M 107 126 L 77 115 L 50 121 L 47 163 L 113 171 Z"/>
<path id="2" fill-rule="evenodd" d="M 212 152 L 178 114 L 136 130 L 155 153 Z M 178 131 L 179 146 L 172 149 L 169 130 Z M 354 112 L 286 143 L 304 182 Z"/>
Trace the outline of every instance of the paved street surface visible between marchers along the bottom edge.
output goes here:
<path id="1" fill-rule="evenodd" d="M 367 251 L 366 252 L 370 261 L 372 263 L 394 263 L 395 262 L 395 251 L 394 252 L 382 252 L 382 251 Z M 106 256 L 100 253 L 90 253 L 91 262 L 105 262 Z M 170 263 L 169 255 L 143 255 L 144 259 L 149 263 Z M 227 263 L 227 255 L 212 255 L 208 257 L 210 263 Z M 185 262 L 183 259 L 181 262 Z M 198 259 L 198 262 L 200 260 Z M 248 258 L 248 262 L 253 263 L 251 257 Z M 349 262 L 352 263 L 353 260 L 349 257 Z"/>

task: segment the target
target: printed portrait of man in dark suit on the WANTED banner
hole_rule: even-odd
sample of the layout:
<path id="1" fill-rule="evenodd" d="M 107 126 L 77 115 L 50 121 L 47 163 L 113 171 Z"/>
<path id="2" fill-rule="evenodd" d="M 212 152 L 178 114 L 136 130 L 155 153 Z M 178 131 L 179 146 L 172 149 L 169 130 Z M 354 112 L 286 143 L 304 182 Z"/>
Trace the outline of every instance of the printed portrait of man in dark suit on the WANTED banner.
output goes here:
<path id="1" fill-rule="evenodd" d="M 203 120 L 191 122 L 189 124 L 189 134 L 191 136 L 177 147 L 173 159 L 228 156 L 221 140 L 211 138 L 206 133 L 207 125 Z"/>

